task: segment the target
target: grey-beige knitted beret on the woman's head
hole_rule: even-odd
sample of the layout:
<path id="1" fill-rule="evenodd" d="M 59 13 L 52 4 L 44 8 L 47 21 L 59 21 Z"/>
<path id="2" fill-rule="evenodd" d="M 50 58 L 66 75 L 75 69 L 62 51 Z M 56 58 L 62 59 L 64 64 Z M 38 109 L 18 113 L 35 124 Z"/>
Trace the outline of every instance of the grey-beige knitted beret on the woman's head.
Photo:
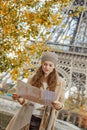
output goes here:
<path id="1" fill-rule="evenodd" d="M 44 61 L 51 61 L 54 63 L 54 65 L 57 64 L 58 56 L 54 52 L 45 52 L 42 56 L 41 62 Z"/>

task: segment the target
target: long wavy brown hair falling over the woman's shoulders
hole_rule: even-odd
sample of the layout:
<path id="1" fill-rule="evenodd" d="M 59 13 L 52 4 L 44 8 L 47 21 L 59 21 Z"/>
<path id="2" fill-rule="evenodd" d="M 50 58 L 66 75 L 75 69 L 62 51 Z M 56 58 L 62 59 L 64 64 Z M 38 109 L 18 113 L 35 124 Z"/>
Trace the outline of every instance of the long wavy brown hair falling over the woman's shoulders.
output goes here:
<path id="1" fill-rule="evenodd" d="M 53 71 L 47 77 L 47 84 L 50 91 L 55 91 L 56 86 L 60 84 L 58 80 L 58 73 L 54 68 Z M 36 74 L 32 77 L 30 84 L 35 87 L 42 87 L 43 86 L 43 79 L 44 79 L 44 72 L 42 70 L 42 66 L 39 67 Z"/>

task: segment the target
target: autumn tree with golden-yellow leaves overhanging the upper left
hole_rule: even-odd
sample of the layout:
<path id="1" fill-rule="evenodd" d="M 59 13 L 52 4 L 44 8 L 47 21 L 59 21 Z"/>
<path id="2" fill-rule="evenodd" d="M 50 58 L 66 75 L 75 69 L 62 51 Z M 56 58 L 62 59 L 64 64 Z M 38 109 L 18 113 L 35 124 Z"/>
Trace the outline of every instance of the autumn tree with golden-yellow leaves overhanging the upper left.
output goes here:
<path id="1" fill-rule="evenodd" d="M 71 2 L 0 0 L 0 73 L 9 71 L 15 80 L 27 77 L 34 59 L 50 49 L 46 41 L 51 28 L 61 23 L 62 10 Z"/>

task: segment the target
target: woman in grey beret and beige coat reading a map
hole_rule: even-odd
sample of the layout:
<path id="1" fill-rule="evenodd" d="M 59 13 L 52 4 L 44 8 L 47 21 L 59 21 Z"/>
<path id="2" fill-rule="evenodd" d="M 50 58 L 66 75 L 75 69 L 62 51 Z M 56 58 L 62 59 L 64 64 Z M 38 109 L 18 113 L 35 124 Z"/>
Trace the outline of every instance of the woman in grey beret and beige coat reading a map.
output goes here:
<path id="1" fill-rule="evenodd" d="M 32 111 L 29 128 L 24 126 L 21 130 L 54 130 L 57 112 L 64 106 L 65 89 L 65 81 L 60 78 L 56 71 L 57 60 L 58 57 L 54 52 L 45 52 L 41 59 L 41 66 L 28 79 L 28 84 L 32 86 L 57 93 L 57 99 L 52 102 L 52 107 L 33 103 L 34 110 Z M 27 101 L 23 98 L 17 97 L 15 99 L 23 106 L 27 104 Z"/>

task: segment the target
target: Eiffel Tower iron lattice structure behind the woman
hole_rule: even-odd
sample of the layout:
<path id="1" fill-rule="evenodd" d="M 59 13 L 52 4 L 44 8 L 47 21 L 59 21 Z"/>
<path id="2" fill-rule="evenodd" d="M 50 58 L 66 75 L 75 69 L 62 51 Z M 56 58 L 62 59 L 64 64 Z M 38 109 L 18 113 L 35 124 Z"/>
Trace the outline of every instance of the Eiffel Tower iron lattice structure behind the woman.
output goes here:
<path id="1" fill-rule="evenodd" d="M 47 45 L 58 53 L 57 69 L 67 82 L 69 95 L 75 88 L 87 95 L 87 0 L 74 0 L 64 15 L 61 25 L 53 28 Z"/>

